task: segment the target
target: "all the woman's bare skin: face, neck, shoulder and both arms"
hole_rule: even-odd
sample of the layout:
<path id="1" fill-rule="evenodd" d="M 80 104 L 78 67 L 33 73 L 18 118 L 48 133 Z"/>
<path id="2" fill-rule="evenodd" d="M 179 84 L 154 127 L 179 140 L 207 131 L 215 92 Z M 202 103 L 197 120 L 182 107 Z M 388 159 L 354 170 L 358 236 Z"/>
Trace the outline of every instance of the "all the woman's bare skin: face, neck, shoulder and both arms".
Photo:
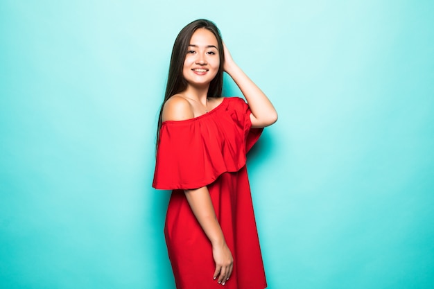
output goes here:
<path id="1" fill-rule="evenodd" d="M 220 65 L 216 37 L 209 30 L 199 28 L 193 33 L 190 44 L 189 51 L 186 51 L 182 71 L 188 82 L 187 88 L 166 101 L 162 121 L 192 119 L 209 112 L 223 101 L 223 98 L 207 100 L 209 82 L 216 76 Z M 225 53 L 223 69 L 236 82 L 248 101 L 252 111 L 250 114 L 252 127 L 264 128 L 275 123 L 277 112 L 270 100 L 238 67 L 227 47 L 223 46 Z M 213 278 L 224 286 L 232 274 L 234 259 L 216 218 L 207 186 L 184 192 L 196 219 L 211 242 L 212 254 L 216 263 Z"/>

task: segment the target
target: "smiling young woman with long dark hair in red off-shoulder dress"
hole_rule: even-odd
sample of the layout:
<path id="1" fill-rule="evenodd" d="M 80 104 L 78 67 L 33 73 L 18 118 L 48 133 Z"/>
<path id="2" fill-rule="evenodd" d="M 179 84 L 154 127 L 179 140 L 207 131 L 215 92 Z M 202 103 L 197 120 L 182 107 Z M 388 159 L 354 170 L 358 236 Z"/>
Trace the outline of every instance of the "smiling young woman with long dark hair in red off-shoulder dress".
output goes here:
<path id="1" fill-rule="evenodd" d="M 247 103 L 221 97 L 223 71 Z M 245 161 L 275 121 L 275 108 L 232 60 L 216 25 L 185 26 L 173 45 L 153 181 L 173 190 L 164 233 L 178 289 L 266 288 Z"/>

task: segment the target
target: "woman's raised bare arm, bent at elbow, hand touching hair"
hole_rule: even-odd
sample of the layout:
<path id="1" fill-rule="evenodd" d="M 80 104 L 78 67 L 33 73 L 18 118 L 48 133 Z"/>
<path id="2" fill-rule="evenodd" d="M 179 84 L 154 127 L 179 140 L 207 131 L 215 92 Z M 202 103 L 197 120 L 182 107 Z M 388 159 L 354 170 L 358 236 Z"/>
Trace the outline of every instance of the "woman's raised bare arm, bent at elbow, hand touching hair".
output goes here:
<path id="1" fill-rule="evenodd" d="M 250 120 L 252 128 L 264 128 L 272 125 L 277 121 L 277 112 L 268 97 L 254 84 L 252 80 L 241 70 L 234 62 L 226 45 L 223 44 L 225 50 L 225 64 L 223 69 L 231 76 L 236 85 L 241 89 L 250 107 Z"/>

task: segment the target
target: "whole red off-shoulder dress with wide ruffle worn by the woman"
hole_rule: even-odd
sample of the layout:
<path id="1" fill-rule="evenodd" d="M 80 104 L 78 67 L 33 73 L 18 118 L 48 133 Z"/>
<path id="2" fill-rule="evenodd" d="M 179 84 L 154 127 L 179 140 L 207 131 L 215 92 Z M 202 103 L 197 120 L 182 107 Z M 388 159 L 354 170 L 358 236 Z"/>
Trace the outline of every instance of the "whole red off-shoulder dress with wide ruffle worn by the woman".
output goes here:
<path id="1" fill-rule="evenodd" d="M 242 98 L 224 98 L 194 119 L 165 121 L 153 187 L 171 189 L 164 234 L 177 289 L 267 287 L 254 220 L 246 153 L 262 129 L 252 129 Z M 213 280 L 211 243 L 193 215 L 183 189 L 207 186 L 234 270 L 222 287 Z"/>

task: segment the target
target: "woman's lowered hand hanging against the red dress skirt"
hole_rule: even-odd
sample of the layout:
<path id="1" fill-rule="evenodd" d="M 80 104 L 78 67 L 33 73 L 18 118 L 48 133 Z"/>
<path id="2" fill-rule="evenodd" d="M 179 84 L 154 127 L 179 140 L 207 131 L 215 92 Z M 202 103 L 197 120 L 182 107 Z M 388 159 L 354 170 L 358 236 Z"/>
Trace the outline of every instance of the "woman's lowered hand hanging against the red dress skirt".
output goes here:
<path id="1" fill-rule="evenodd" d="M 232 253 L 229 250 L 229 247 L 227 247 L 226 243 L 223 243 L 223 245 L 213 245 L 212 254 L 214 257 L 214 262 L 216 262 L 214 279 L 218 277 L 218 283 L 225 285 L 232 274 L 232 269 L 234 268 L 234 259 L 232 258 Z"/>

